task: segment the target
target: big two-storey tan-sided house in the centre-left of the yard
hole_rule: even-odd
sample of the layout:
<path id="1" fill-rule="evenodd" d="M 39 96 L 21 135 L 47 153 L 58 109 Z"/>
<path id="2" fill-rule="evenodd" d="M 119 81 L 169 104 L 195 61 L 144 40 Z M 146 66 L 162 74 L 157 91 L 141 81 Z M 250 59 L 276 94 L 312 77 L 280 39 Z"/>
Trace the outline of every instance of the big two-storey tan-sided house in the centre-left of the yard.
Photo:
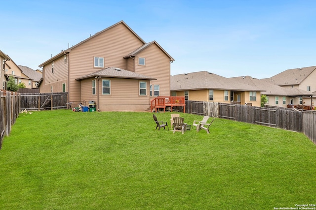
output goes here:
<path id="1" fill-rule="evenodd" d="M 120 21 L 40 64 L 40 92 L 67 91 L 70 102 L 95 101 L 100 111 L 145 111 L 151 99 L 170 96 L 172 61 L 156 41 L 146 43 Z"/>

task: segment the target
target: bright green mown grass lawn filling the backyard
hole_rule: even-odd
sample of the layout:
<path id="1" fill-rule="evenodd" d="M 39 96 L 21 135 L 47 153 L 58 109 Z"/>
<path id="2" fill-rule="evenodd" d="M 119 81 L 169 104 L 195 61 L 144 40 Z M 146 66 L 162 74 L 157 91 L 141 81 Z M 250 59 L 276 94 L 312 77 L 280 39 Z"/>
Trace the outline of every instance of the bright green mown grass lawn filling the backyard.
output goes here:
<path id="1" fill-rule="evenodd" d="M 270 210 L 316 203 L 316 146 L 304 134 L 225 119 L 216 119 L 210 134 L 173 134 L 155 130 L 152 114 L 21 114 L 0 150 L 0 209 Z M 170 113 L 156 115 L 169 124 Z"/>

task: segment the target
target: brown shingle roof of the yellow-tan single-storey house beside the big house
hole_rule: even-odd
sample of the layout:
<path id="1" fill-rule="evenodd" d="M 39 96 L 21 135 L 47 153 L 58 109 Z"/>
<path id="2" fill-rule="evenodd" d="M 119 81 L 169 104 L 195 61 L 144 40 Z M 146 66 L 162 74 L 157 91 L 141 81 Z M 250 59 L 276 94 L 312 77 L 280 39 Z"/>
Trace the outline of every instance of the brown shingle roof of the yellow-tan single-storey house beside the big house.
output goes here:
<path id="1" fill-rule="evenodd" d="M 178 74 L 170 77 L 170 90 L 240 90 L 240 91 L 264 91 L 243 83 L 234 82 L 226 77 L 207 71 Z"/>

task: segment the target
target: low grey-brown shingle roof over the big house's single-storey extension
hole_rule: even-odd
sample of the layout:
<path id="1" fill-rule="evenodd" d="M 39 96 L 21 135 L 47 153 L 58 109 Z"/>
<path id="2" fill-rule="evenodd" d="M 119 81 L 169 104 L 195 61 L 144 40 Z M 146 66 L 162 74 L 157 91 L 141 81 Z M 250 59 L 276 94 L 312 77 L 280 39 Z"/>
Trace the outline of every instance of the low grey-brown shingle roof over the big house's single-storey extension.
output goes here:
<path id="1" fill-rule="evenodd" d="M 142 80 L 157 80 L 149 76 L 137 74 L 132 71 L 127 71 L 121 68 L 109 67 L 99 71 L 79 77 L 76 80 L 83 80 L 91 77 L 111 77 L 111 78 L 125 78 L 125 79 L 142 79 Z"/>

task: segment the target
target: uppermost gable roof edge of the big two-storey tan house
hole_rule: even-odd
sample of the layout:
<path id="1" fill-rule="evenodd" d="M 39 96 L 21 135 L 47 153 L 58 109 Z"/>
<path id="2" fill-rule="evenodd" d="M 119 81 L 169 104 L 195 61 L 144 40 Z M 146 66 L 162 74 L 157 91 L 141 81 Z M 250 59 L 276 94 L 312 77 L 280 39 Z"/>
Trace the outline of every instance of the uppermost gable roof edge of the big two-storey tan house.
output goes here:
<path id="1" fill-rule="evenodd" d="M 114 25 L 112 25 L 112 26 L 110 26 L 110 27 L 108 27 L 108 28 L 106 28 L 106 29 L 104 29 L 104 30 L 101 30 L 101 31 L 95 33 L 94 35 L 90 36 L 89 38 L 87 38 L 87 39 L 85 39 L 85 40 L 79 42 L 78 44 L 74 45 L 73 47 L 70 47 L 70 48 L 68 48 L 67 50 L 62 51 L 61 53 L 57 54 L 56 56 L 52 57 L 51 59 L 46 60 L 45 62 L 41 63 L 39 66 L 44 66 L 45 64 L 50 63 L 51 61 L 56 60 L 57 58 L 60 58 L 60 57 L 64 56 L 65 53 L 69 53 L 69 52 L 70 52 L 72 49 L 74 49 L 75 47 L 77 47 L 77 46 L 79 46 L 79 45 L 85 43 L 86 41 L 92 39 L 93 37 L 99 35 L 100 33 L 103 33 L 104 31 L 109 30 L 109 29 L 111 29 L 111 28 L 113 28 L 113 27 L 115 27 L 115 26 L 117 26 L 117 25 L 119 25 L 119 24 L 123 24 L 123 25 L 124 25 L 128 30 L 130 30 L 141 42 L 143 42 L 144 44 L 146 44 L 146 42 L 145 42 L 140 36 L 138 36 L 131 28 L 129 28 L 129 26 L 127 26 L 124 21 L 119 21 L 118 23 L 116 23 L 116 24 L 114 24 Z"/>

